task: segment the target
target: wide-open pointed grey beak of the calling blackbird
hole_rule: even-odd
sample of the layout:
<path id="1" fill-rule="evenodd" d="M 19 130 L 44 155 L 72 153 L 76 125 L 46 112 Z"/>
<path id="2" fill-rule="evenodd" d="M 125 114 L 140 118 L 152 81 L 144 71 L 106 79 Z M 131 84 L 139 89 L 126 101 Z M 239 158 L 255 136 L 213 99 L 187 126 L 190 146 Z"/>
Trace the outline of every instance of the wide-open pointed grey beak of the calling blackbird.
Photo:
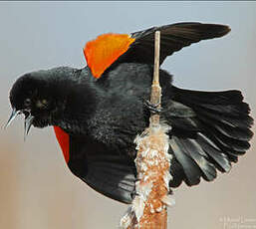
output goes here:
<path id="1" fill-rule="evenodd" d="M 7 128 L 18 114 L 25 114 L 25 122 L 24 122 L 24 140 L 25 140 L 34 119 L 34 116 L 30 114 L 30 111 L 17 111 L 16 109 L 13 109 L 12 114 L 10 115 L 4 128 Z"/>

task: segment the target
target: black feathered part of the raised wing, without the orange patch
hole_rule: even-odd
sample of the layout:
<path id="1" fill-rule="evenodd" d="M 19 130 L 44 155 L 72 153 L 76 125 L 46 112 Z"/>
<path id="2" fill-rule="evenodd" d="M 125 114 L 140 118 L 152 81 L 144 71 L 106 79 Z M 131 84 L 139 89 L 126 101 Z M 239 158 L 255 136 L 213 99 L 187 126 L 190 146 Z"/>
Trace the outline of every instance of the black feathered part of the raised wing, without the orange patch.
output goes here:
<path id="1" fill-rule="evenodd" d="M 224 25 L 201 24 L 196 22 L 176 23 L 131 34 L 135 41 L 130 45 L 125 60 L 153 64 L 154 33 L 160 31 L 160 64 L 167 56 L 201 40 L 226 35 L 230 28 Z"/>

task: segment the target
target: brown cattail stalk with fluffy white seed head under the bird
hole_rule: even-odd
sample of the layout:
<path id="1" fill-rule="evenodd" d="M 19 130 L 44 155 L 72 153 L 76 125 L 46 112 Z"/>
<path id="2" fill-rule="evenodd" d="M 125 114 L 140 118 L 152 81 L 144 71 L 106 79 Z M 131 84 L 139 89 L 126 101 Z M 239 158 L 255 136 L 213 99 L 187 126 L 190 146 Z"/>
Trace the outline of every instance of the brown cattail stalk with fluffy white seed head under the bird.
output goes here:
<path id="1" fill-rule="evenodd" d="M 155 32 L 154 73 L 150 104 L 160 109 L 161 88 L 159 85 L 160 32 Z M 170 154 L 168 154 L 169 126 L 160 123 L 160 114 L 151 114 L 149 126 L 136 136 L 137 181 L 136 195 L 121 221 L 126 229 L 166 229 L 167 206 L 173 204 L 168 195 Z"/>

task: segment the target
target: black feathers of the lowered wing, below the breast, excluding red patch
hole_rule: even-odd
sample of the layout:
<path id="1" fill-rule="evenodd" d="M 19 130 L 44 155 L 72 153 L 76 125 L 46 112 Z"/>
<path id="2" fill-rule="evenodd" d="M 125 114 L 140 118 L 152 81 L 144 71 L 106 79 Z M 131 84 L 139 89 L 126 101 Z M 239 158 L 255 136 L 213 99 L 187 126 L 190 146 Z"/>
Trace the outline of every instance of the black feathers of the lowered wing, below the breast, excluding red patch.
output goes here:
<path id="1" fill-rule="evenodd" d="M 135 166 L 125 154 L 108 150 L 100 142 L 70 137 L 71 171 L 98 192 L 124 203 L 131 202 Z"/>

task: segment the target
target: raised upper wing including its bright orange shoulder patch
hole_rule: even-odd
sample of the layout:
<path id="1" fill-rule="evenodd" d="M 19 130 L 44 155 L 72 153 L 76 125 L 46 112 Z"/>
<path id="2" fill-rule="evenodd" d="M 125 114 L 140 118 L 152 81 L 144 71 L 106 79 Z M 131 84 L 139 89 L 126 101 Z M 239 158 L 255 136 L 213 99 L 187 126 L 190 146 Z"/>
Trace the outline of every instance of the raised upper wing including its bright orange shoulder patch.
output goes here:
<path id="1" fill-rule="evenodd" d="M 153 64 L 154 32 L 160 31 L 160 64 L 167 56 L 201 40 L 222 37 L 228 26 L 196 22 L 176 23 L 128 34 L 105 34 L 87 43 L 84 54 L 95 78 L 114 63 Z"/>

